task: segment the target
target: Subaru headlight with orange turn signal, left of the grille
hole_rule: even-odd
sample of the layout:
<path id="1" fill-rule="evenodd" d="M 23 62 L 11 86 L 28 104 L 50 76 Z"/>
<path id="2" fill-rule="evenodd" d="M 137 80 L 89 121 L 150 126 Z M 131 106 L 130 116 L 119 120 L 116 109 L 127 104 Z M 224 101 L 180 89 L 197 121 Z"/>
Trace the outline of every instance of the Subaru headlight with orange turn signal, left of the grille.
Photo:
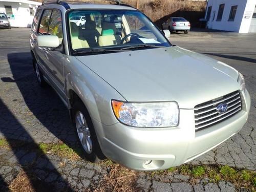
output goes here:
<path id="1" fill-rule="evenodd" d="M 116 118 L 136 127 L 169 127 L 179 123 L 176 102 L 130 103 L 112 100 Z"/>

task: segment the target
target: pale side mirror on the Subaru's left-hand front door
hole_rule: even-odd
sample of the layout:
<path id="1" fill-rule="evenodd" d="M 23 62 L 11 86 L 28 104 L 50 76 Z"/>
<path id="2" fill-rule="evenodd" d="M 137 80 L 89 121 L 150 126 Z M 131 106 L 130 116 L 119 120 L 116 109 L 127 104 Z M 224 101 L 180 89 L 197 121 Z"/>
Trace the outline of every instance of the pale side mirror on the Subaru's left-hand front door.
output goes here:
<path id="1" fill-rule="evenodd" d="M 38 47 L 56 48 L 59 47 L 59 38 L 56 35 L 37 36 Z"/>

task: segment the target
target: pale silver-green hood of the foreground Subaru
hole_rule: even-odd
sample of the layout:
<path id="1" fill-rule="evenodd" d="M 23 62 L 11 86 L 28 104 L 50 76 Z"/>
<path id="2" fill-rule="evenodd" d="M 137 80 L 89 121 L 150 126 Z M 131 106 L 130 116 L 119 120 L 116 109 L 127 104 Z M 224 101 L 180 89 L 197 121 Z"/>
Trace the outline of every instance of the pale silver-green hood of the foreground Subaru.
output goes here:
<path id="1" fill-rule="evenodd" d="M 193 109 L 240 89 L 237 70 L 177 46 L 77 59 L 127 101 L 177 101 L 180 108 Z"/>

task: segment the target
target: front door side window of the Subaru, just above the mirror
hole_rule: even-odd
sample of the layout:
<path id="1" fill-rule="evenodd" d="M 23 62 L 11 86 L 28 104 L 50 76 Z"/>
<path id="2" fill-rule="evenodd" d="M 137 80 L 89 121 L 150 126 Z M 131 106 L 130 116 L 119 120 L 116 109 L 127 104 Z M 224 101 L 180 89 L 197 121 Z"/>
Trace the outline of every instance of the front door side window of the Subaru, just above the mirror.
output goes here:
<path id="1" fill-rule="evenodd" d="M 62 42 L 62 19 L 61 14 L 57 10 L 52 11 L 52 16 L 50 20 L 48 35 L 57 35 L 59 37 L 59 42 Z"/>

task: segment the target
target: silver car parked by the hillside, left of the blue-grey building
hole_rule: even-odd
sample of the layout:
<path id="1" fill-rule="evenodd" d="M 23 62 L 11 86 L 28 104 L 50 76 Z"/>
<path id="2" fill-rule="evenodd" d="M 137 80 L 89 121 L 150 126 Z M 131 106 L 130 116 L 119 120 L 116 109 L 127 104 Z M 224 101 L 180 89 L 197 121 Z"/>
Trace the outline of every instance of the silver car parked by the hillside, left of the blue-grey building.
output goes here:
<path id="1" fill-rule="evenodd" d="M 162 28 L 168 29 L 170 32 L 184 31 L 184 33 L 188 33 L 190 31 L 190 23 L 183 17 L 170 17 L 162 24 Z"/>

